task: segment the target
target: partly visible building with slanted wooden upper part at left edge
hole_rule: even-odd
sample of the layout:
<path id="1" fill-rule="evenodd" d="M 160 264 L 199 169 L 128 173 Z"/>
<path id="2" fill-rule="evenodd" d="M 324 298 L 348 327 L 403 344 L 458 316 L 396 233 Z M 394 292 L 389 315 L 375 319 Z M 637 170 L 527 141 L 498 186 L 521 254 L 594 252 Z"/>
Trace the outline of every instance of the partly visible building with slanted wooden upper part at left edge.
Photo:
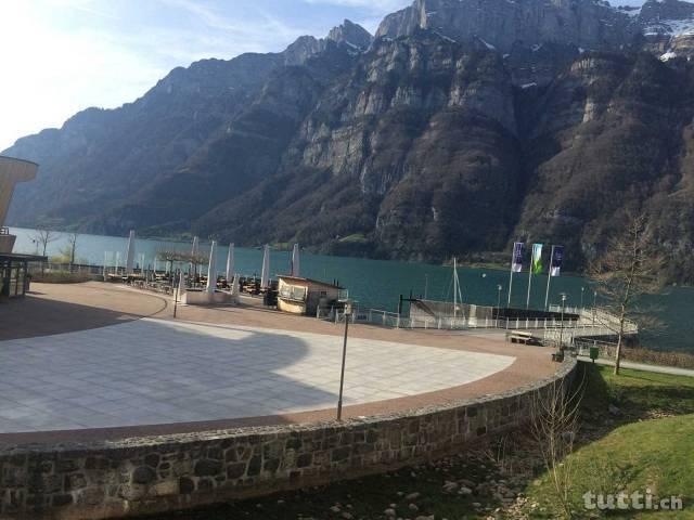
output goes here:
<path id="1" fill-rule="evenodd" d="M 29 263 L 46 260 L 44 257 L 12 252 L 16 236 L 4 226 L 14 186 L 17 182 L 35 179 L 38 168 L 36 162 L 0 156 L 0 298 L 24 296 Z"/>

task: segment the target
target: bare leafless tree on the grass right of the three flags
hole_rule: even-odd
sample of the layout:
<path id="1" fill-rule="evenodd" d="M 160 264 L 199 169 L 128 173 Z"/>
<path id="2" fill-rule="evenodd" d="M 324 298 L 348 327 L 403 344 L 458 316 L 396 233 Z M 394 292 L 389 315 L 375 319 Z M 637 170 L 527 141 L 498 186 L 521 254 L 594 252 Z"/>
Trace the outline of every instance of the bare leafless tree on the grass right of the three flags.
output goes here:
<path id="1" fill-rule="evenodd" d="M 609 240 L 603 256 L 590 268 L 590 276 L 609 313 L 599 318 L 602 317 L 601 323 L 617 336 L 616 375 L 619 374 L 625 336 L 633 332 L 632 324 L 644 321 L 638 307 L 640 297 L 658 292 L 663 287 L 659 277 L 663 264 L 646 218 L 629 214 L 624 229 Z"/>

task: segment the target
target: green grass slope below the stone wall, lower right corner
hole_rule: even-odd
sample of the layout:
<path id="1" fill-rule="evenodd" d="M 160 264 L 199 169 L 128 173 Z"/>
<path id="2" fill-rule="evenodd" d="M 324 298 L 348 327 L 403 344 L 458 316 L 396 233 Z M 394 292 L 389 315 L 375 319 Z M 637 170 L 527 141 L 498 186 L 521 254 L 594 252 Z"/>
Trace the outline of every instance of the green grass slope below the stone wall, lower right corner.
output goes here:
<path id="1" fill-rule="evenodd" d="M 607 433 L 565 461 L 576 468 L 571 485 L 576 518 L 594 514 L 583 507 L 587 491 L 616 494 L 651 489 L 656 496 L 680 496 L 684 510 L 638 515 L 632 510 L 622 518 L 694 519 L 694 378 L 629 369 L 615 376 L 612 367 L 582 368 L 583 421 L 592 433 L 595 429 Z M 609 405 L 619 413 L 611 415 Z M 660 418 L 644 420 L 650 417 Z M 547 473 L 531 482 L 527 493 L 544 509 L 532 518 L 555 518 L 556 500 Z"/>

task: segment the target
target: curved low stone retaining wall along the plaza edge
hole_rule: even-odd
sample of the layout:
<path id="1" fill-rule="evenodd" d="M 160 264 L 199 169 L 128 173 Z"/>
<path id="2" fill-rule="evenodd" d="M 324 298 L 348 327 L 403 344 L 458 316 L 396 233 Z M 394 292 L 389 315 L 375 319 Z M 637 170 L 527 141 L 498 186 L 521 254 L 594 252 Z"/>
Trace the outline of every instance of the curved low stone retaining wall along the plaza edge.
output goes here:
<path id="1" fill-rule="evenodd" d="M 190 508 L 415 464 L 520 426 L 573 377 L 409 414 L 0 452 L 1 518 L 102 519 Z"/>

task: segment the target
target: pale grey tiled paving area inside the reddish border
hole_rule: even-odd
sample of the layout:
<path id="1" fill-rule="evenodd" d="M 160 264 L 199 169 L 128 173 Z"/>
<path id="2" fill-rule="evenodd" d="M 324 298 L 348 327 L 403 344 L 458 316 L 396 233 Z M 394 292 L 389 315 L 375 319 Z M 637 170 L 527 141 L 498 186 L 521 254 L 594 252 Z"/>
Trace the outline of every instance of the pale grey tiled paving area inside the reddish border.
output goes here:
<path id="1" fill-rule="evenodd" d="M 0 433 L 331 408 L 340 356 L 339 336 L 159 318 L 0 341 Z M 514 361 L 350 338 L 345 405 L 459 387 Z"/>

